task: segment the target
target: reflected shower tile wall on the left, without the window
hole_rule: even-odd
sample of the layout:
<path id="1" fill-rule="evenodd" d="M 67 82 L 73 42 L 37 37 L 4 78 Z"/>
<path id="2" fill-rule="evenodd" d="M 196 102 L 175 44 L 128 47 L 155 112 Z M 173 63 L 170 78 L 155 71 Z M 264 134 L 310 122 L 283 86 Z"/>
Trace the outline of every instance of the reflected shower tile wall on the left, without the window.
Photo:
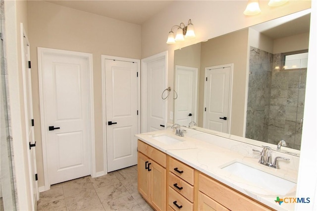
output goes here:
<path id="1" fill-rule="evenodd" d="M 267 142 L 273 54 L 250 46 L 246 137 Z"/>

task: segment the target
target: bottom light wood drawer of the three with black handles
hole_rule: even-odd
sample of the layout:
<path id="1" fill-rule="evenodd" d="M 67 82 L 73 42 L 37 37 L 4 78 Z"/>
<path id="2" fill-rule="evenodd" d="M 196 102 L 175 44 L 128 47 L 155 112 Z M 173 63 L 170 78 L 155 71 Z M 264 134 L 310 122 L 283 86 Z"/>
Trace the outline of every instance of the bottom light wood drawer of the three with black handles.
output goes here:
<path id="1" fill-rule="evenodd" d="M 188 201 L 171 187 L 168 187 L 168 205 L 175 211 L 192 211 L 194 208 L 193 203 Z M 178 208 L 176 205 L 181 208 Z"/>

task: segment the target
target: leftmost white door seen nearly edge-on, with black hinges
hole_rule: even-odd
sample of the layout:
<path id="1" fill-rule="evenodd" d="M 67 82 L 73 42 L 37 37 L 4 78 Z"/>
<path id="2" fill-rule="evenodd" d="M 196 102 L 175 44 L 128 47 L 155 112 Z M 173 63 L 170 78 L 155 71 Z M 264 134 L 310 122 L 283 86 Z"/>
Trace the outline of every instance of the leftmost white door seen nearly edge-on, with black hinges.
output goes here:
<path id="1" fill-rule="evenodd" d="M 25 108 L 25 119 L 26 119 L 26 132 L 28 145 L 30 151 L 28 153 L 29 167 L 31 174 L 31 186 L 32 186 L 32 207 L 34 210 L 37 208 L 37 201 L 39 200 L 38 192 L 38 179 L 37 179 L 37 167 L 36 167 L 36 141 L 34 139 L 34 119 L 33 119 L 33 103 L 32 103 L 32 83 L 31 83 L 31 65 L 30 65 L 30 43 L 24 33 L 23 26 L 21 25 L 21 30 L 23 31 L 23 88 L 24 88 L 24 108 Z"/>

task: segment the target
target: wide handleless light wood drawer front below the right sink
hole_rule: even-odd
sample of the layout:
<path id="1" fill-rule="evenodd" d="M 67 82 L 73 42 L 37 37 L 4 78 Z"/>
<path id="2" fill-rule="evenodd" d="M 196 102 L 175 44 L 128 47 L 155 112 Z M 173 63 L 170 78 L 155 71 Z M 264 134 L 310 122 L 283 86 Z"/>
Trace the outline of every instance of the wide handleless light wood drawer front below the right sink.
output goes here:
<path id="1" fill-rule="evenodd" d="M 199 174 L 199 190 L 229 210 L 269 210 L 258 202 L 247 198 L 203 174 Z"/>

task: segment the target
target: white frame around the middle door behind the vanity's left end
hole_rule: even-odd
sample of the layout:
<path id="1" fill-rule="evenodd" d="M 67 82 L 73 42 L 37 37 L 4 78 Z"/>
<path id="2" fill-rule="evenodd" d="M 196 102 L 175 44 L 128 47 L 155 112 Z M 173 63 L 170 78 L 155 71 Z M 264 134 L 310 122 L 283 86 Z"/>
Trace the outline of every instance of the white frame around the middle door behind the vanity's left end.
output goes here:
<path id="1" fill-rule="evenodd" d="M 105 59 L 110 60 L 118 60 L 118 61 L 125 61 L 125 62 L 134 62 L 137 64 L 137 72 L 138 72 L 138 111 L 141 111 L 141 87 L 140 87 L 140 59 L 131 59 L 125 57 L 118 57 L 118 56 L 108 56 L 108 55 L 101 55 L 101 75 L 102 75 L 102 107 L 103 107 L 103 142 L 104 142 L 104 171 L 99 172 L 97 176 L 102 176 L 107 174 L 107 134 L 106 134 L 106 68 L 105 68 Z M 142 111 L 139 112 L 138 115 L 138 125 L 137 130 L 138 133 L 141 132 L 141 114 Z"/>

